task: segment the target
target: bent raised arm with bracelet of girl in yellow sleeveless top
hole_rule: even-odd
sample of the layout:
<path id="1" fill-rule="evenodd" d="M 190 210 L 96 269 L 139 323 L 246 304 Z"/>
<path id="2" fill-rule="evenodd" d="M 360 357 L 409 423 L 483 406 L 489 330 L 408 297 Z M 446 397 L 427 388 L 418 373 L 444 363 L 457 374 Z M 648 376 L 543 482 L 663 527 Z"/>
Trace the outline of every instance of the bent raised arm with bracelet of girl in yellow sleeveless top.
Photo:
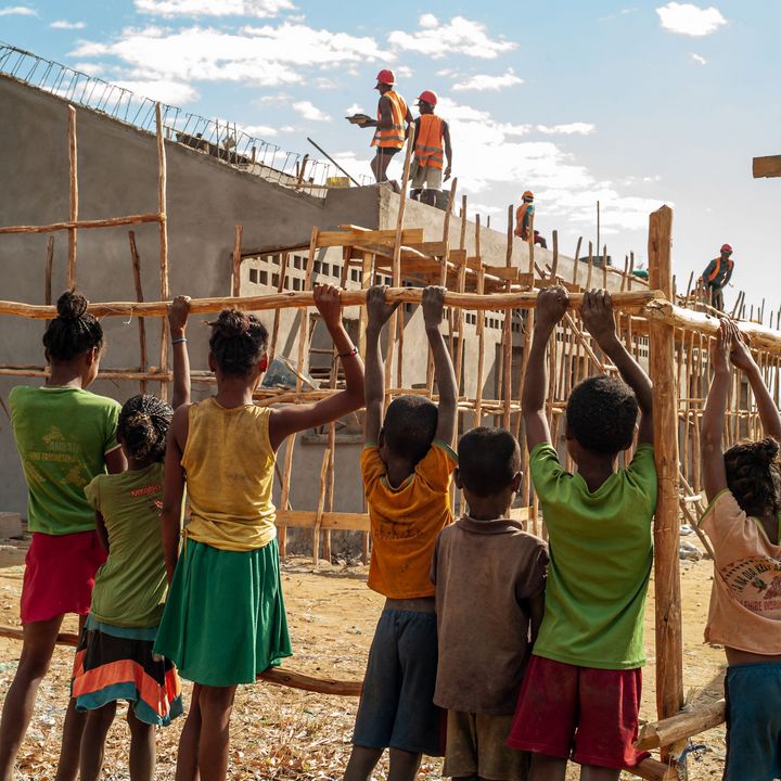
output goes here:
<path id="1" fill-rule="evenodd" d="M 315 286 L 315 306 L 322 316 L 345 374 L 345 389 L 308 405 L 285 405 L 271 412 L 269 439 L 277 450 L 291 434 L 338 420 L 363 406 L 363 363 L 342 323 L 340 290 Z"/>

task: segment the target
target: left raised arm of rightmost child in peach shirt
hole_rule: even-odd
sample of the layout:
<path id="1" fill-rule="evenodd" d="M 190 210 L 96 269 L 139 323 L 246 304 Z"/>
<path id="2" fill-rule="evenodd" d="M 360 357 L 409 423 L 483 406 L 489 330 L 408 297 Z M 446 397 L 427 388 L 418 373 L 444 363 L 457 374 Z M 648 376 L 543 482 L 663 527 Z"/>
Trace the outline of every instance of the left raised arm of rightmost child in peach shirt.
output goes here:
<path id="1" fill-rule="evenodd" d="M 700 452 L 702 454 L 703 483 L 708 501 L 727 488 L 727 469 L 724 462 L 721 435 L 724 433 L 725 410 L 729 395 L 732 371 L 729 366 L 729 351 L 732 333 L 728 320 L 721 320 L 718 335 L 710 347 L 710 364 L 714 379 L 710 382 L 705 411 L 700 432 Z"/>

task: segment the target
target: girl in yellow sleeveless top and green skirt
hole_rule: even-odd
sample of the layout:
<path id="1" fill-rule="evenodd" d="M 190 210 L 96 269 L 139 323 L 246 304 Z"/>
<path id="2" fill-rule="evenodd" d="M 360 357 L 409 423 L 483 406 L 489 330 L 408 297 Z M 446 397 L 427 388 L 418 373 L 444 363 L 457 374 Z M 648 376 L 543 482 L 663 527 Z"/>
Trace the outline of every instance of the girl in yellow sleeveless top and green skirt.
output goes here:
<path id="1" fill-rule="evenodd" d="M 179 742 L 177 778 L 225 779 L 239 683 L 291 655 L 271 500 L 276 453 L 294 432 L 362 404 L 363 368 L 342 323 L 340 291 L 315 287 L 315 305 L 342 360 L 346 387 L 309 405 L 256 407 L 268 332 L 253 315 L 223 310 L 212 323 L 217 395 L 174 413 L 165 462 L 163 547 L 170 592 L 155 652 L 195 682 Z M 192 520 L 179 554 L 184 484 Z"/>

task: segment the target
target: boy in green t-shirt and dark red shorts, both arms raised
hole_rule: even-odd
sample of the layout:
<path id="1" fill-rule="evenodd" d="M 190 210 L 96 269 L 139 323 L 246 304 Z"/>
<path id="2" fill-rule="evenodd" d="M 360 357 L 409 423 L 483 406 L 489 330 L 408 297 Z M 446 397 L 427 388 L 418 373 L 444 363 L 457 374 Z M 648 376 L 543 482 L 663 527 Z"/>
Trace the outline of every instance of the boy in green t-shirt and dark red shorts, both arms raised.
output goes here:
<path id="1" fill-rule="evenodd" d="M 509 743 L 534 752 L 532 781 L 564 781 L 571 755 L 584 781 L 617 781 L 625 765 L 642 758 L 633 742 L 656 507 L 651 381 L 615 333 L 610 293 L 587 293 L 584 324 L 624 382 L 603 375 L 573 388 L 566 443 L 578 471 L 566 472 L 551 445 L 545 402 L 546 345 L 566 312 L 567 292 L 548 287 L 537 304 L 522 407 L 550 566 L 545 617 Z M 632 443 L 638 407 L 635 458 L 616 470 Z"/>

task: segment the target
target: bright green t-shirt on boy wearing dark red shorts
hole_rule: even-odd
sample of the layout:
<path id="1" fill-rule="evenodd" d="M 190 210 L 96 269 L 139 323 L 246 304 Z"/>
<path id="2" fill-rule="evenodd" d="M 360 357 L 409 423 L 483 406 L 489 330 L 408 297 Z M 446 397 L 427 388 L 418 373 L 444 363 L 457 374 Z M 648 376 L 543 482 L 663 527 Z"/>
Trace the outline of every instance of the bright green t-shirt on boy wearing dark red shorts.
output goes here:
<path id="1" fill-rule="evenodd" d="M 529 466 L 550 547 L 534 653 L 579 667 L 640 667 L 656 509 L 653 446 L 638 446 L 629 466 L 593 494 L 548 444 L 534 448 Z"/>

